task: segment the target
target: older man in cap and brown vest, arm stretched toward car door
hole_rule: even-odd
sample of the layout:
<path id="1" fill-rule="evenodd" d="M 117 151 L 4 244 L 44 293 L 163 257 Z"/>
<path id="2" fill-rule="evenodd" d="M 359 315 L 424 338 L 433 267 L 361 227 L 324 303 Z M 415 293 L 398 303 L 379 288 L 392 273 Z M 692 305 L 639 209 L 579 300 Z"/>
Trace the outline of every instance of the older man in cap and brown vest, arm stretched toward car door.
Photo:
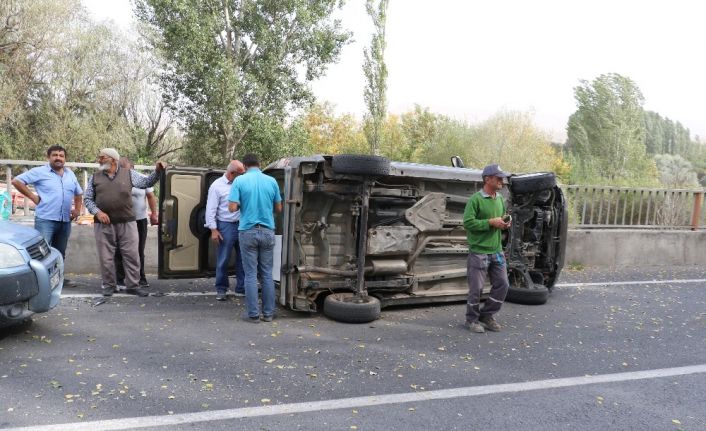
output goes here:
<path id="1" fill-rule="evenodd" d="M 91 175 L 84 192 L 86 209 L 95 216 L 93 231 L 103 278 L 103 295 L 115 292 L 115 250 L 123 256 L 125 293 L 147 296 L 139 288 L 140 260 L 138 233 L 132 209 L 132 188 L 146 189 L 153 186 L 166 168 L 158 161 L 148 176 L 132 169 L 121 168 L 120 155 L 114 148 L 98 152 L 98 171 Z"/>

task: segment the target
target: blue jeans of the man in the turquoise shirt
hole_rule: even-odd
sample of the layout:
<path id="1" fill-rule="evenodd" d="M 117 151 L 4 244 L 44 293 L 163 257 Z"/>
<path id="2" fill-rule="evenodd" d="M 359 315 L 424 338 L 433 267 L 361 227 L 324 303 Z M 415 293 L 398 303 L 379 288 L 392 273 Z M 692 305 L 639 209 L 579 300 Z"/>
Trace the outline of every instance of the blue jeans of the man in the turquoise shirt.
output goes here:
<path id="1" fill-rule="evenodd" d="M 257 276 L 262 284 L 262 315 L 275 312 L 275 282 L 272 280 L 272 260 L 275 233 L 265 227 L 240 231 L 240 251 L 245 269 L 245 303 L 249 317 L 260 315 L 257 305 Z"/>

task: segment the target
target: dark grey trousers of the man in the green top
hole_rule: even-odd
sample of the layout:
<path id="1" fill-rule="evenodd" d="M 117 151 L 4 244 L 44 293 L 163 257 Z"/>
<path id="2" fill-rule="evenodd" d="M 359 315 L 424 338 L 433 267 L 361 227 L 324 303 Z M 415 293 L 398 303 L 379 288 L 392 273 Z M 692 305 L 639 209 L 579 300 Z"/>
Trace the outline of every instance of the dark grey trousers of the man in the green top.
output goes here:
<path id="1" fill-rule="evenodd" d="M 489 317 L 500 311 L 510 288 L 503 253 L 468 253 L 466 271 L 468 275 L 466 321 L 476 322 L 481 316 Z M 485 301 L 481 310 L 480 295 L 485 285 L 486 275 L 490 277 L 490 297 Z"/>

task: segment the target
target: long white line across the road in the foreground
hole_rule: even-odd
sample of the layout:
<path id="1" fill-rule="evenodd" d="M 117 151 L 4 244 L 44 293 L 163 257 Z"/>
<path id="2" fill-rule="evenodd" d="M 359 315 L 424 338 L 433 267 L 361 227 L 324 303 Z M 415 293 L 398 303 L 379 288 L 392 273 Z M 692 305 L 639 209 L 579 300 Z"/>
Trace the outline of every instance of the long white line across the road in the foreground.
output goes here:
<path id="1" fill-rule="evenodd" d="M 562 379 L 536 380 L 531 382 L 506 383 L 487 386 L 469 386 L 437 391 L 411 392 L 401 394 L 375 395 L 334 400 L 311 401 L 304 403 L 279 404 L 273 406 L 245 407 L 210 412 L 182 413 L 164 416 L 143 416 L 122 419 L 110 419 L 93 422 L 76 422 L 35 427 L 10 428 L 6 431 L 95 431 L 126 430 L 135 428 L 187 425 L 201 422 L 277 416 L 284 414 L 321 412 L 379 406 L 384 404 L 402 404 L 452 398 L 475 397 L 479 395 L 502 394 L 508 392 L 526 392 L 545 389 L 567 388 L 598 383 L 629 382 L 634 380 L 658 379 L 664 377 L 686 376 L 706 373 L 706 364 L 688 367 L 662 368 L 656 370 L 633 371 L 593 376 L 567 377 Z"/>

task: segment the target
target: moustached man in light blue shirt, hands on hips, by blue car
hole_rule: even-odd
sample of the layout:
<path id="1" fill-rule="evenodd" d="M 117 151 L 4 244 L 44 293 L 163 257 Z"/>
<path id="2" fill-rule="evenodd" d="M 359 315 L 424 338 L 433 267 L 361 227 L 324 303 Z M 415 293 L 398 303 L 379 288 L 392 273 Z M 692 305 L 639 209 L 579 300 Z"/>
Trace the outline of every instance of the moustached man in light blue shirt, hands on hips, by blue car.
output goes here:
<path id="1" fill-rule="evenodd" d="M 48 164 L 37 166 L 12 180 L 20 193 L 34 204 L 34 228 L 50 246 L 66 259 L 66 244 L 71 235 L 71 220 L 81 214 L 83 190 L 73 171 L 64 168 L 66 150 L 60 145 L 47 149 Z M 36 193 L 27 187 L 33 185 Z M 73 209 L 71 204 L 73 201 Z"/>

